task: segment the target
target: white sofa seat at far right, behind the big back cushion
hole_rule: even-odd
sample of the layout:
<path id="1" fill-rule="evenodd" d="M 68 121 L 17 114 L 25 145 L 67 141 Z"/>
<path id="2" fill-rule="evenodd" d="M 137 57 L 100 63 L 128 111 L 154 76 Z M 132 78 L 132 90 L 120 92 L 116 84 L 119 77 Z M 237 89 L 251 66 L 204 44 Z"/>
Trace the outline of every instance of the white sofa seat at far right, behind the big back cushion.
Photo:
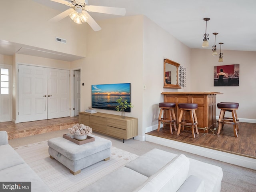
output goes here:
<path id="1" fill-rule="evenodd" d="M 204 180 L 206 192 L 220 192 L 223 177 L 222 168 L 195 159 L 190 160 L 188 175 L 194 175 Z"/>

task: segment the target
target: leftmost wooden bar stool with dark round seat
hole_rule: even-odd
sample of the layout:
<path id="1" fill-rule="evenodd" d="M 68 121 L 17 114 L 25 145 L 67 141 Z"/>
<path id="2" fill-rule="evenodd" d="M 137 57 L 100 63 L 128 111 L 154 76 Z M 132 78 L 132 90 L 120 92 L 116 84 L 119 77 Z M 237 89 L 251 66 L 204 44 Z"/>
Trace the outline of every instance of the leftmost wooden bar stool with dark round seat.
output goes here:
<path id="1" fill-rule="evenodd" d="M 164 128 L 164 124 L 168 123 L 170 125 L 170 133 L 173 134 L 172 133 L 172 123 L 174 125 L 175 131 L 177 131 L 176 117 L 175 117 L 175 113 L 174 113 L 176 104 L 175 103 L 159 103 L 158 106 L 160 108 L 160 113 L 158 116 L 157 132 L 159 132 L 159 130 L 160 130 L 161 123 L 163 123 L 163 128 Z M 164 111 L 164 114 L 163 114 L 163 118 L 162 118 L 163 111 Z"/>

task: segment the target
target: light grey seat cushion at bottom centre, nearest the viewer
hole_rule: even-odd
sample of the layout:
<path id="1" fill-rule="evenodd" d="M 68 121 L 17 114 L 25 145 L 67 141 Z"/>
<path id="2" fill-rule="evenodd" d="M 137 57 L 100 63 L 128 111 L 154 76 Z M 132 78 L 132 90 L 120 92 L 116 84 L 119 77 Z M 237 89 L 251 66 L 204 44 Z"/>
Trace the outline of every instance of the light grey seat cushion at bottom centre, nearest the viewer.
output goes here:
<path id="1" fill-rule="evenodd" d="M 121 167 L 79 192 L 131 192 L 147 179 L 148 177 L 134 170 Z"/>

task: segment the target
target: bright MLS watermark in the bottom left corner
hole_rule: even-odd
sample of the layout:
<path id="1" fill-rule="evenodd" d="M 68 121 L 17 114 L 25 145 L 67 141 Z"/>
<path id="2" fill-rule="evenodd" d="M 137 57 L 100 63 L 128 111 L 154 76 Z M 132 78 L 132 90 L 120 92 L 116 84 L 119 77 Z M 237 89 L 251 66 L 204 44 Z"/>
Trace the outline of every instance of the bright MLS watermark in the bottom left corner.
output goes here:
<path id="1" fill-rule="evenodd" d="M 0 182 L 1 192 L 31 192 L 31 182 Z"/>

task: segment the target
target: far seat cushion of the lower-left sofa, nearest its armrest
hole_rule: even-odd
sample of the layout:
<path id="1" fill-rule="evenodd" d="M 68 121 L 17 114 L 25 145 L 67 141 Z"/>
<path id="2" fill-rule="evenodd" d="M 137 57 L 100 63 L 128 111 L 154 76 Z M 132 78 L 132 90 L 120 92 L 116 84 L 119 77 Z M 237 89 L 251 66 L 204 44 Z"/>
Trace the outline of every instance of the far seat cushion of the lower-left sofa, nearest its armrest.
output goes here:
<path id="1" fill-rule="evenodd" d="M 0 145 L 0 170 L 25 163 L 10 145 Z"/>

